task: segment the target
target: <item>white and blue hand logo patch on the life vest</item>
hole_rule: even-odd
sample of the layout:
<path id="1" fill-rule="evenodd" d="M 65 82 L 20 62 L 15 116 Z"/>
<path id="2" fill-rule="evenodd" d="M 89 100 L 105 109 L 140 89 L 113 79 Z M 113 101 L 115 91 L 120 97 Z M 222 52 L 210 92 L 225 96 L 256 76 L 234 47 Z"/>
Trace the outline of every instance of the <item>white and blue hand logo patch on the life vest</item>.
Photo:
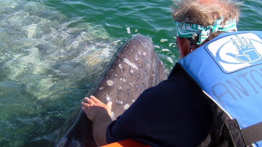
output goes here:
<path id="1" fill-rule="evenodd" d="M 254 33 L 229 35 L 205 46 L 225 73 L 262 64 L 262 40 Z"/>

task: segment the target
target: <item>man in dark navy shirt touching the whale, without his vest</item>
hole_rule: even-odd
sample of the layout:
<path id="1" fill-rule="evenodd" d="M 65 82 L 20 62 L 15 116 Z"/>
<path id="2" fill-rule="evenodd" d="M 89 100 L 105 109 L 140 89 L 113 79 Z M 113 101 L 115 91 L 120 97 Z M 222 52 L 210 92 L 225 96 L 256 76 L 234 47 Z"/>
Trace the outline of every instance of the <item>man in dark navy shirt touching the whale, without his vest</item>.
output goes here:
<path id="1" fill-rule="evenodd" d="M 179 58 L 220 33 L 236 31 L 239 10 L 234 2 L 185 0 L 175 5 Z M 94 96 L 85 101 L 82 110 L 93 121 L 98 146 L 127 138 L 149 146 L 197 146 L 206 138 L 212 123 L 209 104 L 182 70 L 172 71 L 167 80 L 145 90 L 113 122 L 111 102 L 101 103 Z"/>

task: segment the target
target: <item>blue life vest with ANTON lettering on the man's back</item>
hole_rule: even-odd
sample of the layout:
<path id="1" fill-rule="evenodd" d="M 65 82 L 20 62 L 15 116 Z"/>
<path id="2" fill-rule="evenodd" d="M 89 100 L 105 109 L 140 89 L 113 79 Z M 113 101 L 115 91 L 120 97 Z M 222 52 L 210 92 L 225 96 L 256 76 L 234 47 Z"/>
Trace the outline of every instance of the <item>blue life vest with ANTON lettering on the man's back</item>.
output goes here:
<path id="1" fill-rule="evenodd" d="M 211 107 L 215 104 L 230 120 L 236 120 L 234 125 L 238 129 L 227 126 L 236 142 L 234 146 L 262 147 L 259 141 L 262 136 L 262 31 L 222 33 L 177 64 L 199 85 L 206 98 L 212 100 Z M 214 117 L 221 116 L 220 112 L 215 113 Z M 224 121 L 227 119 L 222 123 Z M 245 129 L 252 125 L 255 129 Z M 254 139 L 257 136 L 260 139 Z M 239 143 L 239 138 L 245 145 Z M 256 143 L 252 145 L 250 139 Z"/>

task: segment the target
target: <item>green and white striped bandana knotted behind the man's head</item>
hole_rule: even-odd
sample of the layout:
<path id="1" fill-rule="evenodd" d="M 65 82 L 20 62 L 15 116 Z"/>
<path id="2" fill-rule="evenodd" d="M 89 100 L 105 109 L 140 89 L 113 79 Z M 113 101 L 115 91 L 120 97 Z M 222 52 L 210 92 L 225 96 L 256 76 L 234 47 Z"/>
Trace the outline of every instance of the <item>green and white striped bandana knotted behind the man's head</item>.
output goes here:
<path id="1" fill-rule="evenodd" d="M 206 38 L 209 36 L 210 32 L 233 32 L 237 31 L 236 28 L 236 19 L 229 20 L 225 22 L 225 25 L 221 25 L 223 16 L 217 19 L 213 25 L 209 25 L 204 27 L 202 25 L 192 24 L 192 23 L 182 23 L 182 22 L 174 22 L 176 27 L 176 36 L 189 38 L 193 36 L 199 35 L 199 40 L 197 45 L 203 43 Z"/>

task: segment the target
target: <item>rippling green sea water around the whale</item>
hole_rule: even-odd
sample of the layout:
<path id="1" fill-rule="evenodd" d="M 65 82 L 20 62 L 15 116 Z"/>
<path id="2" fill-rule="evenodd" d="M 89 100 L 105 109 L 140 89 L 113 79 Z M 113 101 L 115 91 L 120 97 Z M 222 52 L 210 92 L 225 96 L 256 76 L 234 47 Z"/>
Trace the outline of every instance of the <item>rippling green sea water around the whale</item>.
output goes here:
<path id="1" fill-rule="evenodd" d="M 171 0 L 0 0 L 0 146 L 52 146 L 116 49 L 152 39 L 170 72 L 178 59 Z M 262 31 L 260 0 L 238 29 Z"/>

